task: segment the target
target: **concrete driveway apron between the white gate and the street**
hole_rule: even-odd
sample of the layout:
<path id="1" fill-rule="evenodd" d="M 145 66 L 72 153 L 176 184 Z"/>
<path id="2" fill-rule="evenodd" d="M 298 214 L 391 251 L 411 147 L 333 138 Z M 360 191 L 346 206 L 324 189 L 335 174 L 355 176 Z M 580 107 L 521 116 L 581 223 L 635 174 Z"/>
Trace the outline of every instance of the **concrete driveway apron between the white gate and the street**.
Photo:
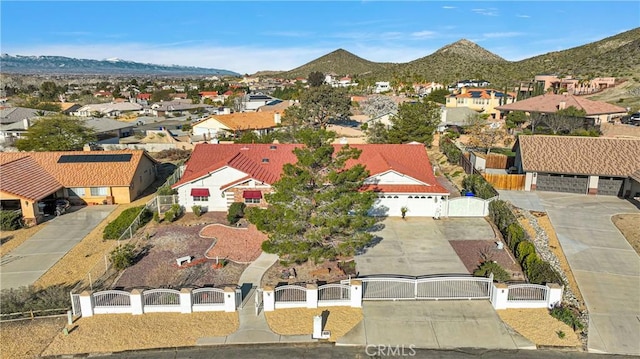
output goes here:
<path id="1" fill-rule="evenodd" d="M 535 348 L 509 330 L 487 300 L 368 301 L 364 319 L 338 345 L 392 345 L 409 348 Z"/>

